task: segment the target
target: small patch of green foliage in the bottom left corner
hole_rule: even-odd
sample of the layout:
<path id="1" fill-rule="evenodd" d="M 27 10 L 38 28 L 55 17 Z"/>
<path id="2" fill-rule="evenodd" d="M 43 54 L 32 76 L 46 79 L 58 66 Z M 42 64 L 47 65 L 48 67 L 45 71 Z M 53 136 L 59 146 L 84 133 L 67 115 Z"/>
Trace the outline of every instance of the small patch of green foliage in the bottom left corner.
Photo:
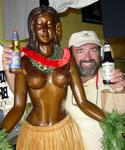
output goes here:
<path id="1" fill-rule="evenodd" d="M 7 140 L 7 133 L 0 130 L 0 150 L 13 150 L 12 145 Z"/>

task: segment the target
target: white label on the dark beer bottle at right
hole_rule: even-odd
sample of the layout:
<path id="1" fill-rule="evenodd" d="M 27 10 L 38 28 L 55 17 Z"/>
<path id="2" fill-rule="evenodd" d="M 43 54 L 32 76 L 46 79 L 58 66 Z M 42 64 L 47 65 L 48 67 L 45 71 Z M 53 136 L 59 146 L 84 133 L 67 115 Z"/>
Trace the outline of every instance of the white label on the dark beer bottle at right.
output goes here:
<path id="1" fill-rule="evenodd" d="M 105 62 L 102 64 L 102 71 L 103 71 L 103 80 L 110 80 L 111 73 L 115 68 L 115 64 L 112 62 Z"/>

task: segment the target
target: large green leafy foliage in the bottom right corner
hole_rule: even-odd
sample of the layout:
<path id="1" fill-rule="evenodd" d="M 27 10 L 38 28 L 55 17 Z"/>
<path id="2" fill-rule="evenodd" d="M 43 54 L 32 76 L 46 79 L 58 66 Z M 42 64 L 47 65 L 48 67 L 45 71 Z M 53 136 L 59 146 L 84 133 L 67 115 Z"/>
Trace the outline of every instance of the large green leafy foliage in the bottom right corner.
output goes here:
<path id="1" fill-rule="evenodd" d="M 113 110 L 101 121 L 103 130 L 101 139 L 104 150 L 125 150 L 125 113 L 119 114 Z"/>

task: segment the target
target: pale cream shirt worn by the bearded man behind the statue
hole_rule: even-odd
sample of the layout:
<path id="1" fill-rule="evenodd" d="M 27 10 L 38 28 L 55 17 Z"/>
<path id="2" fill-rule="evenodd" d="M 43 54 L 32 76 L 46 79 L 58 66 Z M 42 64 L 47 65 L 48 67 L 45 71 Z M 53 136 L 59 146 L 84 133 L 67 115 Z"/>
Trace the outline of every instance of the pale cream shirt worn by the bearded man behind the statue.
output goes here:
<path id="1" fill-rule="evenodd" d="M 87 99 L 101 108 L 101 91 L 104 88 L 109 88 L 103 85 L 101 70 L 99 70 L 98 73 L 98 90 L 96 83 L 97 77 L 87 81 L 83 86 Z M 90 118 L 79 109 L 70 87 L 68 88 L 65 108 L 71 114 L 81 130 L 85 150 L 102 150 L 102 144 L 100 142 L 102 138 L 102 130 L 99 122 Z"/>

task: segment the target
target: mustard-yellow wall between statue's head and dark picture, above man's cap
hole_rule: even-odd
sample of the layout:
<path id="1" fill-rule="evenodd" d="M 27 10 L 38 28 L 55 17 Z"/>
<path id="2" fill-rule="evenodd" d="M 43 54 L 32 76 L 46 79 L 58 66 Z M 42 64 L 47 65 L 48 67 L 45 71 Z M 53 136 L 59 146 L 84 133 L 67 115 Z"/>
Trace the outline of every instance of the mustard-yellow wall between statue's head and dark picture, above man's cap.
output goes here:
<path id="1" fill-rule="evenodd" d="M 68 11 L 60 14 L 60 16 L 63 29 L 62 47 L 67 46 L 72 33 L 80 30 L 94 30 L 99 38 L 103 40 L 102 25 L 83 23 L 80 9 L 68 9 Z"/>

